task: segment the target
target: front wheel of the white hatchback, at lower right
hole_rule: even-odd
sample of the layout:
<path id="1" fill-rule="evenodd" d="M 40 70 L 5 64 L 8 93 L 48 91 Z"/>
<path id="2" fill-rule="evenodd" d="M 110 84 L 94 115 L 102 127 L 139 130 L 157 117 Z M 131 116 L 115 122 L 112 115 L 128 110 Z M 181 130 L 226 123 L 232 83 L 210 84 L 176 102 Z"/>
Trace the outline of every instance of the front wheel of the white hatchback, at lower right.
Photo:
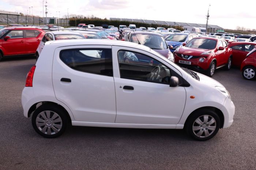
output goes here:
<path id="1" fill-rule="evenodd" d="M 220 124 L 219 116 L 214 111 L 202 109 L 189 117 L 185 128 L 192 138 L 203 141 L 213 138 Z"/>

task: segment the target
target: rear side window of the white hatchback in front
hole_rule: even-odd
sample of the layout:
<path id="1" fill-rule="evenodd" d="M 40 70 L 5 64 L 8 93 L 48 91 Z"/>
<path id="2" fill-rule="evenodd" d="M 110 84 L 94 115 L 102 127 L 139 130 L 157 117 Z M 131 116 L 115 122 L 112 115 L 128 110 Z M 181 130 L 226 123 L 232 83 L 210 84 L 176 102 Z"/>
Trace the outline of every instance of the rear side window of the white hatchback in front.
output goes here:
<path id="1" fill-rule="evenodd" d="M 113 76 L 112 49 L 68 49 L 60 52 L 60 59 L 74 70 Z"/>

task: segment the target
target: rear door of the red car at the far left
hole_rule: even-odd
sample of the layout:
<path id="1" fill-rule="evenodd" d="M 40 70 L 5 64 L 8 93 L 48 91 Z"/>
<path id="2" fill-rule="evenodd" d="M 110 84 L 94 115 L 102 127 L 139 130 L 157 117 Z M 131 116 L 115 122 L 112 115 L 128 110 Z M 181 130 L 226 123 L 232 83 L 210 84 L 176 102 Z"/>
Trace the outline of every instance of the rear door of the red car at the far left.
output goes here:
<path id="1" fill-rule="evenodd" d="M 25 30 L 26 33 L 26 51 L 27 53 L 35 53 L 41 39 L 39 38 L 42 32 L 37 30 Z"/>

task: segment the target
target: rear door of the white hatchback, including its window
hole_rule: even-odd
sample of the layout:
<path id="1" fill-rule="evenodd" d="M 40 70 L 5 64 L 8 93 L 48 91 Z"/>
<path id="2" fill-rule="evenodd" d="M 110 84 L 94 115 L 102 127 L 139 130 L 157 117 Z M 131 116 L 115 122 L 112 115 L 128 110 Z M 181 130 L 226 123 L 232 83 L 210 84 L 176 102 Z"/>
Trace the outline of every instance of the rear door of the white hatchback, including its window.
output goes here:
<path id="1" fill-rule="evenodd" d="M 116 96 L 111 46 L 69 46 L 54 52 L 52 80 L 57 100 L 76 121 L 114 123 Z"/>

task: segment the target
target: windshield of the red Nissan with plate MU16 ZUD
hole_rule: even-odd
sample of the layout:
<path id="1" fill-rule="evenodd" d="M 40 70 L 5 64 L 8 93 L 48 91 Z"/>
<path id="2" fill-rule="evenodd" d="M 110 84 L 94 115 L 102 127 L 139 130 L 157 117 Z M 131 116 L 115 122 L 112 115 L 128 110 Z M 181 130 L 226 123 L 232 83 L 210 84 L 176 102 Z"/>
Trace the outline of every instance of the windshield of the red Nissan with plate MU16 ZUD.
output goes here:
<path id="1" fill-rule="evenodd" d="M 189 41 L 189 43 L 186 45 L 186 47 L 212 50 L 212 49 L 215 49 L 216 45 L 217 45 L 216 40 L 195 38 L 195 39 L 192 39 L 191 41 Z"/>

